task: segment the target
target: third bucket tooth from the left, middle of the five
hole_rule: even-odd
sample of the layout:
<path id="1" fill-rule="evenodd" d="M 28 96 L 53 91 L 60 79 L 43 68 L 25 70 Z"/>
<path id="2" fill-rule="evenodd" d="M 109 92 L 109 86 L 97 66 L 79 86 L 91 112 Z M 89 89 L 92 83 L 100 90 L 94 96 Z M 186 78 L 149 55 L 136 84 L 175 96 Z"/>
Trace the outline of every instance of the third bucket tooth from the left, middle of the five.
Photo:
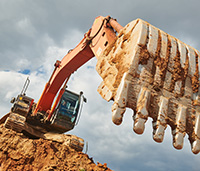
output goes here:
<path id="1" fill-rule="evenodd" d="M 154 130 L 153 135 L 153 139 L 159 143 L 163 141 L 165 129 L 167 127 L 166 116 L 168 112 L 168 102 L 168 98 L 163 96 L 160 97 L 160 108 L 158 118 L 154 126 L 156 129 Z"/>

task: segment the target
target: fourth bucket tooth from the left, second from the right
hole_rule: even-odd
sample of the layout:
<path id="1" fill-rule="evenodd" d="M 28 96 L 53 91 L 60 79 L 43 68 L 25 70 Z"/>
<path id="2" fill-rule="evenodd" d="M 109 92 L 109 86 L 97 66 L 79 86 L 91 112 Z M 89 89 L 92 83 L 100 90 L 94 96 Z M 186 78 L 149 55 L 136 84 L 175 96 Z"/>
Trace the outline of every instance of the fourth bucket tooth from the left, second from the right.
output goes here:
<path id="1" fill-rule="evenodd" d="M 173 130 L 173 146 L 176 149 L 183 148 L 183 142 L 186 131 L 187 107 L 179 105 L 176 115 L 176 128 Z"/>

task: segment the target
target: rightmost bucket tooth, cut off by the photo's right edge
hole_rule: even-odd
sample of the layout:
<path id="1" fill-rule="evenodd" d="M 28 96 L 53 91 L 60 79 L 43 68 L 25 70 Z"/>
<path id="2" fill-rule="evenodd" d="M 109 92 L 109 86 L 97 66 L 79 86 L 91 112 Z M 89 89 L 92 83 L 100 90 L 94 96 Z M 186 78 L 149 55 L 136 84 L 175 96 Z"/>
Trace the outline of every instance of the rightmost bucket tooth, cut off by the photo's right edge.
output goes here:
<path id="1" fill-rule="evenodd" d="M 194 134 L 195 134 L 195 140 L 192 143 L 192 152 L 194 154 L 197 154 L 200 152 L 200 113 L 196 113 Z"/>

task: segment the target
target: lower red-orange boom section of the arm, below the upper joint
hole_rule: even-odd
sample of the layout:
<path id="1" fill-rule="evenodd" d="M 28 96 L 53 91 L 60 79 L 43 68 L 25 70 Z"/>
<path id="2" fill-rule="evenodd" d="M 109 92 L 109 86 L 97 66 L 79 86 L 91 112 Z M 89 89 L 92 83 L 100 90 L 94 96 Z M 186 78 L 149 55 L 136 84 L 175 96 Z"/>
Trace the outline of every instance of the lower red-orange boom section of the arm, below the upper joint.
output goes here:
<path id="1" fill-rule="evenodd" d="M 80 66 L 94 57 L 90 47 L 87 44 L 84 44 L 85 41 L 86 38 L 84 38 L 79 45 L 69 52 L 61 61 L 56 61 L 54 72 L 48 83 L 45 85 L 34 111 L 35 114 L 37 114 L 38 111 L 46 112 L 51 110 L 53 100 L 63 83 L 68 80 L 67 78 L 69 78 Z"/>

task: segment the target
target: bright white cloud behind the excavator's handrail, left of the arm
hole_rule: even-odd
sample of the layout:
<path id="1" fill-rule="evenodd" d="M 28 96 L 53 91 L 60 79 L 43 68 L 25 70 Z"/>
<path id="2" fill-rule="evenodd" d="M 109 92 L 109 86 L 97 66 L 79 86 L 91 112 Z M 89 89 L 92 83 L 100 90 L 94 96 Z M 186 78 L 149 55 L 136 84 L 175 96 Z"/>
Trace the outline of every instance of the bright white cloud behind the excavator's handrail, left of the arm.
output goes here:
<path id="1" fill-rule="evenodd" d="M 37 76 L 35 73 L 30 76 L 31 84 L 27 90 L 27 95 L 39 99 L 41 90 L 44 87 L 44 79 Z M 0 116 L 8 113 L 11 108 L 9 103 L 12 97 L 20 94 L 27 75 L 15 71 L 0 71 Z"/>

